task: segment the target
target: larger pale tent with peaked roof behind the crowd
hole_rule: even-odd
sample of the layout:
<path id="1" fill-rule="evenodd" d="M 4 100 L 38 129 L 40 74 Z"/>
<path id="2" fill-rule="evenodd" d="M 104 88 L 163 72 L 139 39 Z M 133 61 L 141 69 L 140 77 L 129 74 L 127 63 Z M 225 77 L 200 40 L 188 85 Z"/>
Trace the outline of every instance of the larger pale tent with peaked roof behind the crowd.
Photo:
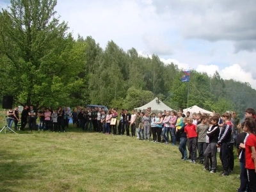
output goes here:
<path id="1" fill-rule="evenodd" d="M 164 104 L 161 100 L 159 100 L 157 97 L 153 100 L 151 100 L 150 102 L 148 102 L 147 104 L 145 104 L 144 106 L 141 106 L 139 108 L 134 108 L 137 111 L 145 111 L 147 110 L 147 108 L 150 107 L 151 110 L 154 113 L 163 113 L 164 110 L 166 111 L 172 111 L 172 108 L 169 108 L 168 106 L 166 106 L 166 104 Z"/>

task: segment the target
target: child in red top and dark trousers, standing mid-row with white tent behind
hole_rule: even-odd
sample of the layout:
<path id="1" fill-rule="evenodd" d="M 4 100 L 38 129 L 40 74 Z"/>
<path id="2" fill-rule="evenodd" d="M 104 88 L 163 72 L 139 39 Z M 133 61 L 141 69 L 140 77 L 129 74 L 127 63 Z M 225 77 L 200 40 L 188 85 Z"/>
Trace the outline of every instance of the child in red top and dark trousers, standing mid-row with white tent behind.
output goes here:
<path id="1" fill-rule="evenodd" d="M 188 125 L 186 125 L 184 132 L 187 134 L 188 138 L 188 150 L 189 156 L 191 157 L 190 163 L 196 163 L 196 125 L 193 124 L 192 118 L 187 118 Z"/>

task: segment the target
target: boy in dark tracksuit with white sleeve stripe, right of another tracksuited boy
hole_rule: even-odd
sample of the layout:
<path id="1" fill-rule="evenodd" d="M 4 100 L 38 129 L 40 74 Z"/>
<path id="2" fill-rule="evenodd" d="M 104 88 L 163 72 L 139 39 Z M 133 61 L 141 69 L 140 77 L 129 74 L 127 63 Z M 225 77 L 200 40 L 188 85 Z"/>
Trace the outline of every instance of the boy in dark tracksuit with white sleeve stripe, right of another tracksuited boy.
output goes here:
<path id="1" fill-rule="evenodd" d="M 229 121 L 229 113 L 223 113 L 222 115 L 225 124 L 220 132 L 217 147 L 220 147 L 220 159 L 223 166 L 223 176 L 228 176 L 228 147 L 230 147 L 231 135 L 232 135 L 232 123 Z"/>

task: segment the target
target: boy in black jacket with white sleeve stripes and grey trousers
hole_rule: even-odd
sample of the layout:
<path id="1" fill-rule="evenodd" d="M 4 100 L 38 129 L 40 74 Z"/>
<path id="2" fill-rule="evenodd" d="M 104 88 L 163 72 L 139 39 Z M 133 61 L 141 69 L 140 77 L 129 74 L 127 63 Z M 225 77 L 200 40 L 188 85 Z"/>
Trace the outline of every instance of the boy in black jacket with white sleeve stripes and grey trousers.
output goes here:
<path id="1" fill-rule="evenodd" d="M 211 154 L 212 159 L 212 168 L 211 173 L 216 173 L 217 170 L 217 143 L 220 135 L 220 127 L 218 125 L 219 117 L 212 116 L 211 124 L 212 127 L 209 131 L 207 131 L 207 136 L 209 137 L 209 145 L 205 149 L 204 152 L 204 168 L 205 170 L 209 170 L 209 154 Z"/>

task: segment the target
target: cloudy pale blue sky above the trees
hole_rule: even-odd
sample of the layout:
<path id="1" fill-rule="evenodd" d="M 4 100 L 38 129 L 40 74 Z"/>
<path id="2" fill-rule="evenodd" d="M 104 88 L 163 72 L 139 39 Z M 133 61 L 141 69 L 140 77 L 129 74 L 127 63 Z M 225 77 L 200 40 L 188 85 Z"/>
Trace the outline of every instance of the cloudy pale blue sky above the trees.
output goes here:
<path id="1" fill-rule="evenodd" d="M 92 36 L 102 48 L 113 40 L 256 89 L 255 7 L 255 0 L 61 0 L 56 11 L 74 37 Z"/>

